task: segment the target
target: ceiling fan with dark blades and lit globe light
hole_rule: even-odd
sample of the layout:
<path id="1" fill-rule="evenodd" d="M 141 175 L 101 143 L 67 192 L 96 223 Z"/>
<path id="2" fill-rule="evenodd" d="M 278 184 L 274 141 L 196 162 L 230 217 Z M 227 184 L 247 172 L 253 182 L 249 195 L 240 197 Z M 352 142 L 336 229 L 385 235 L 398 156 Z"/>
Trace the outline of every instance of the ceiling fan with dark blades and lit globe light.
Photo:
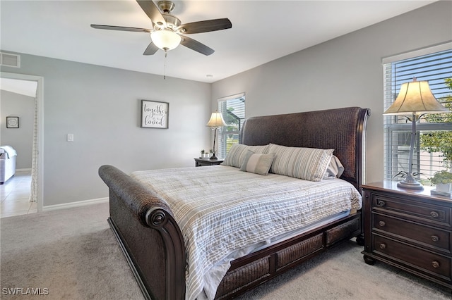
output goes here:
<path id="1" fill-rule="evenodd" d="M 213 49 L 209 48 L 205 44 L 196 41 L 195 39 L 191 39 L 190 37 L 186 37 L 184 35 L 224 30 L 232 27 L 231 21 L 227 18 L 181 24 L 181 20 L 179 20 L 179 18 L 177 18 L 175 15 L 171 14 L 175 7 L 172 1 L 158 1 L 158 7 L 154 4 L 153 1 L 150 0 L 136 1 L 153 23 L 152 29 L 96 24 L 91 24 L 91 27 L 105 30 L 150 33 L 151 42 L 145 49 L 143 55 L 153 55 L 155 54 L 155 52 L 157 52 L 158 49 L 162 49 L 166 53 L 168 50 L 174 49 L 179 46 L 179 44 L 182 44 L 183 46 L 186 46 L 189 49 L 197 51 L 201 54 L 210 55 L 213 54 Z"/>

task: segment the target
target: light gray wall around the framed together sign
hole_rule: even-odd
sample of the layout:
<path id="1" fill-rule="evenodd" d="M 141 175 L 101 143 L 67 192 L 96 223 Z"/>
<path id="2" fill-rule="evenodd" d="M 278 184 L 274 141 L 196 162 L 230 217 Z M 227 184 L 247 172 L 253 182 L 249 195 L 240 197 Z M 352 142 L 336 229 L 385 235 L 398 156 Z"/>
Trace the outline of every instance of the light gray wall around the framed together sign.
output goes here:
<path id="1" fill-rule="evenodd" d="M 44 77 L 44 206 L 106 197 L 100 165 L 194 166 L 210 145 L 210 84 L 27 54 L 1 70 Z M 169 129 L 140 127 L 141 99 L 169 102 Z"/>

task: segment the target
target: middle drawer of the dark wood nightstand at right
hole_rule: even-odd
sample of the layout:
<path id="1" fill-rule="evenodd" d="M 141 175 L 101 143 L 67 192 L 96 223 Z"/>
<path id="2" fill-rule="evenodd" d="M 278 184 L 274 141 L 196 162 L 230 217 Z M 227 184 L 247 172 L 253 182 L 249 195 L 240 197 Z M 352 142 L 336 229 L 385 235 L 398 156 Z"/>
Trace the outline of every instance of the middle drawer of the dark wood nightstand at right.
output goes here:
<path id="1" fill-rule="evenodd" d="M 417 242 L 422 246 L 432 248 L 432 250 L 441 250 L 446 254 L 451 253 L 450 231 L 391 218 L 378 213 L 374 213 L 373 218 L 372 230 L 374 231 L 395 235 L 398 239 L 405 239 L 408 242 Z"/>

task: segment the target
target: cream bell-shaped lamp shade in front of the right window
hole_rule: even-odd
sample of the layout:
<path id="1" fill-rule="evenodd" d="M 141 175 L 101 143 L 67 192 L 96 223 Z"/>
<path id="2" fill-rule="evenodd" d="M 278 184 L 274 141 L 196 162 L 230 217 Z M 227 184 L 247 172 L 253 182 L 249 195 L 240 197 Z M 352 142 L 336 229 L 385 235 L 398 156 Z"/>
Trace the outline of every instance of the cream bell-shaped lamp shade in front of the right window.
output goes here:
<path id="1" fill-rule="evenodd" d="M 430 90 L 427 81 L 405 82 L 400 87 L 396 101 L 383 115 L 423 115 L 424 113 L 446 113 L 449 110 L 441 105 Z"/>

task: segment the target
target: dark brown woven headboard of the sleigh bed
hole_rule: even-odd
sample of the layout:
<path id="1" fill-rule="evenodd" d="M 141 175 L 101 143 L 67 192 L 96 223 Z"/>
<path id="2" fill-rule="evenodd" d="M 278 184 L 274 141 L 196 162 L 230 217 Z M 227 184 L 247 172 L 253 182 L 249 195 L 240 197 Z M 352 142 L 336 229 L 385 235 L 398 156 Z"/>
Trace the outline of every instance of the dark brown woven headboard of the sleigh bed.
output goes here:
<path id="1" fill-rule="evenodd" d="M 364 146 L 369 108 L 347 107 L 283 115 L 265 115 L 245 120 L 240 143 L 245 145 L 334 149 L 344 165 L 340 177 L 359 190 L 364 183 Z"/>

